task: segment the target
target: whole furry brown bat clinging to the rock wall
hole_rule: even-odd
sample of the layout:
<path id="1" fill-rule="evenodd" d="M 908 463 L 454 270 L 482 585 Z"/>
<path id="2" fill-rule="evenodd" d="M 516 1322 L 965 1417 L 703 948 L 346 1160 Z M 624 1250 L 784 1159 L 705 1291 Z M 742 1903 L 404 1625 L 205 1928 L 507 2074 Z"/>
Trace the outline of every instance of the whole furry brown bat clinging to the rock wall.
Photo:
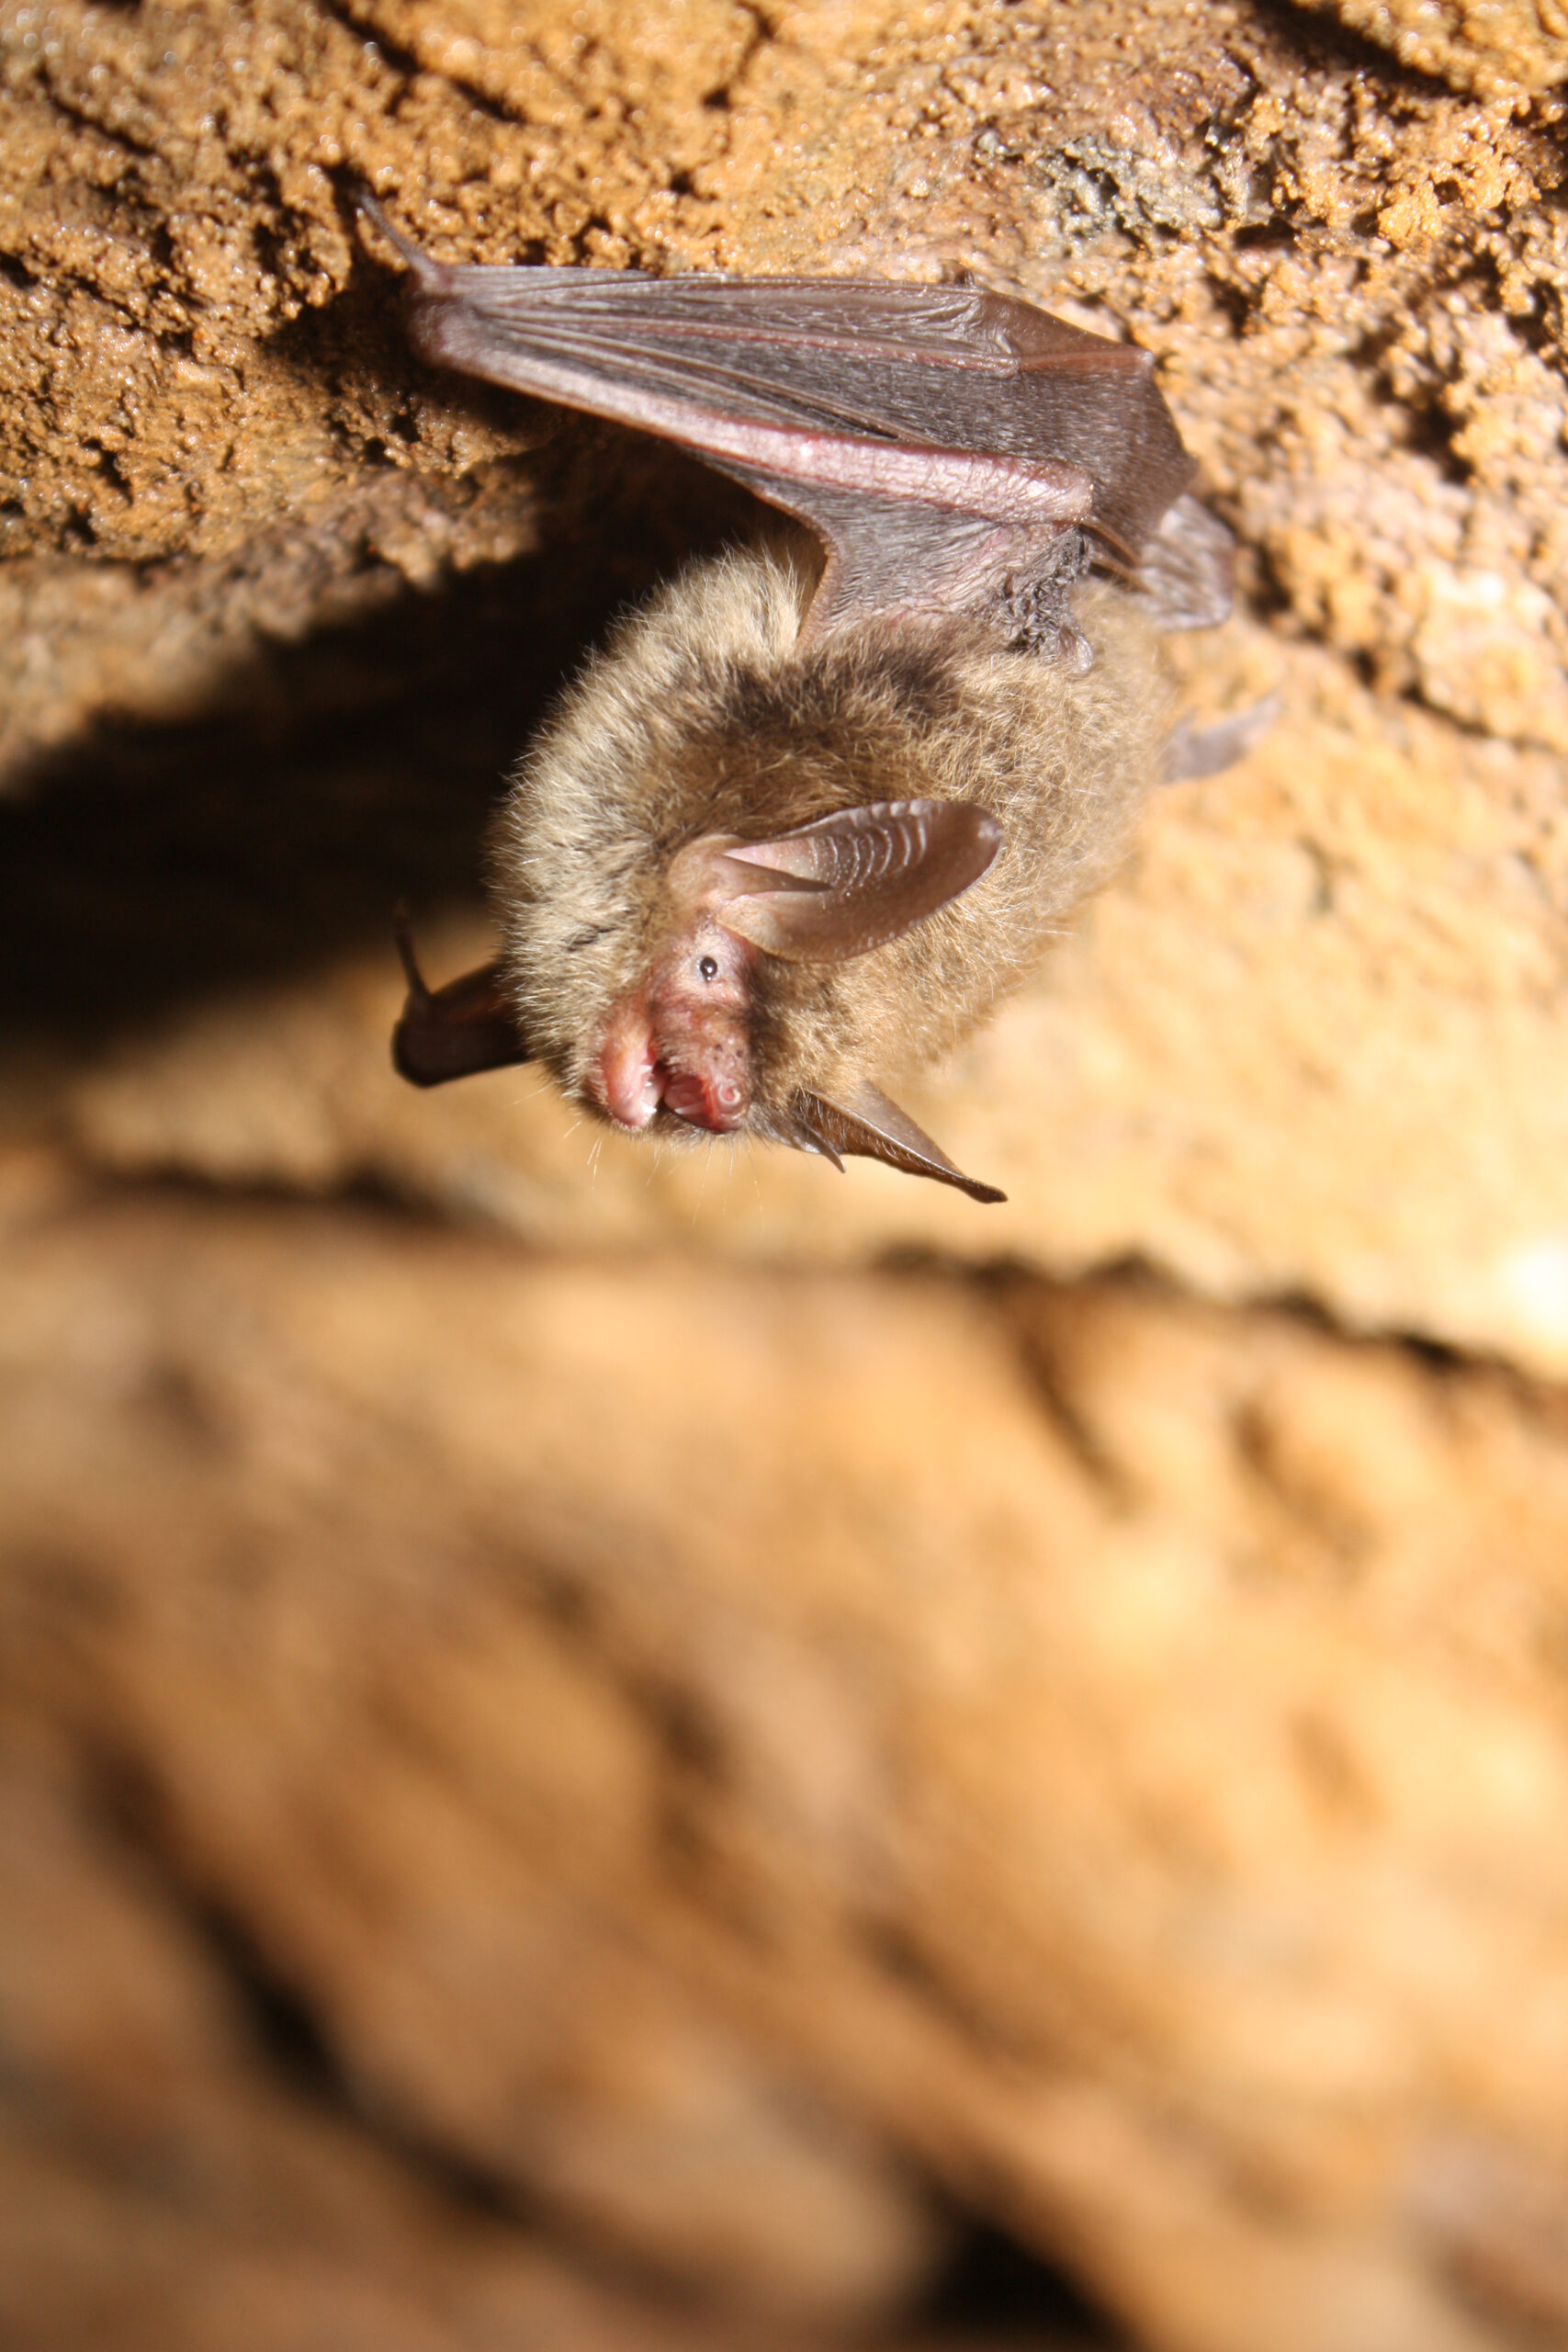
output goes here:
<path id="1" fill-rule="evenodd" d="M 879 1082 L 1030 971 L 1154 779 L 1258 731 L 1168 727 L 1157 635 L 1225 619 L 1229 534 L 1150 358 L 971 287 L 449 268 L 362 202 L 428 360 L 778 510 L 621 621 L 524 753 L 496 962 L 430 990 L 400 931 L 397 1070 L 538 1061 L 625 1131 L 1001 1200 Z"/>

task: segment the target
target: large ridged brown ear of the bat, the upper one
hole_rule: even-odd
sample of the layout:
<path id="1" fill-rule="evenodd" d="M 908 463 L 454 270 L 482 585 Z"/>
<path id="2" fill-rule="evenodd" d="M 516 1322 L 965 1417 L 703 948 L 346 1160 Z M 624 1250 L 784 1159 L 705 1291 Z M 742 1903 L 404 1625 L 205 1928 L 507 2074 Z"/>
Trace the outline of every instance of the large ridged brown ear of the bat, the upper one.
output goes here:
<path id="1" fill-rule="evenodd" d="M 875 800 L 726 849 L 715 915 L 769 955 L 846 964 L 936 915 L 999 849 L 1001 826 L 969 800 Z"/>

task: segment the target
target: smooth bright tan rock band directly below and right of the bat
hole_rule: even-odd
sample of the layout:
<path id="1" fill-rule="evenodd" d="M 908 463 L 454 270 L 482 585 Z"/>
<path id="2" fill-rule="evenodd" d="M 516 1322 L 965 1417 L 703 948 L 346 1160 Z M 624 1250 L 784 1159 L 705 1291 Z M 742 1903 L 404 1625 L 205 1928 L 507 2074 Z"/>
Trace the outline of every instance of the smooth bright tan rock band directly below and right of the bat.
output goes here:
<path id="1" fill-rule="evenodd" d="M 567 1247 L 701 1232 L 745 1256 L 898 1244 L 1058 1272 L 1135 1254 L 1213 1296 L 1305 1291 L 1361 1329 L 1561 1374 L 1559 762 L 1389 717 L 1340 663 L 1258 633 L 1190 668 L 1232 701 L 1284 677 L 1286 717 L 1246 769 L 1159 800 L 1124 880 L 914 1105 L 1004 1209 L 788 1152 L 651 1152 L 529 1070 L 418 1096 L 386 1058 L 388 946 L 132 1030 L 52 1084 L 47 1117 L 132 1174 L 369 1176 Z M 487 950 L 484 929 L 428 938 L 437 974 Z"/>

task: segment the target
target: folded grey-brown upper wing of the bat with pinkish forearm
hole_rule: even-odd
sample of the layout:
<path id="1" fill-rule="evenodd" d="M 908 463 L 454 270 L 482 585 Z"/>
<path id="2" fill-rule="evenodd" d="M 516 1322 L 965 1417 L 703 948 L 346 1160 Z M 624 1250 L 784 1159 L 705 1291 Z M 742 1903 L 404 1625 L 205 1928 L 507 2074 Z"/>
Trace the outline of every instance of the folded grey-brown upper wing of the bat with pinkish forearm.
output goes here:
<path id="1" fill-rule="evenodd" d="M 806 522 L 813 633 L 1027 607 L 1081 569 L 1081 532 L 1131 572 L 1192 477 L 1147 353 L 1004 294 L 451 268 L 362 202 L 428 360 L 684 442 Z"/>

